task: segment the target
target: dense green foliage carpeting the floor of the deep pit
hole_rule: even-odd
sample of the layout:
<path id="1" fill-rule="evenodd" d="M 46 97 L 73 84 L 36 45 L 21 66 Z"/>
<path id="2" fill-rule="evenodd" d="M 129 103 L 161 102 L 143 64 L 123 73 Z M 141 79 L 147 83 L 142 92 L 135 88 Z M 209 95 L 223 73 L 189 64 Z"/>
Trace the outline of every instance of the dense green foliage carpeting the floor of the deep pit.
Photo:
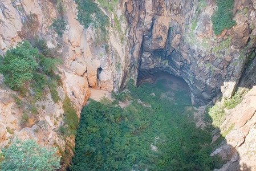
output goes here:
<path id="1" fill-rule="evenodd" d="M 212 170 L 202 148 L 211 136 L 189 118 L 188 92 L 172 96 L 164 80 L 132 85 L 124 109 L 92 100 L 83 108 L 71 170 Z"/>

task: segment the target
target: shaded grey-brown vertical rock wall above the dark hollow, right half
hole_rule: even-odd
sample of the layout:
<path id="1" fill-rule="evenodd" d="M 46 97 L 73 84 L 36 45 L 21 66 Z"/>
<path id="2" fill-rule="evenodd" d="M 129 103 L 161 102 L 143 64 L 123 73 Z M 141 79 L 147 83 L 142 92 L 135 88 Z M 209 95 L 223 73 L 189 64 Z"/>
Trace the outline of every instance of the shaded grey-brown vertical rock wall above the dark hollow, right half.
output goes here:
<path id="1" fill-rule="evenodd" d="M 128 43 L 138 80 L 157 71 L 183 78 L 192 100 L 208 104 L 218 94 L 230 97 L 255 47 L 255 9 L 235 2 L 237 25 L 213 34 L 209 1 L 128 1 Z M 243 11 L 241 13 L 241 11 Z"/>

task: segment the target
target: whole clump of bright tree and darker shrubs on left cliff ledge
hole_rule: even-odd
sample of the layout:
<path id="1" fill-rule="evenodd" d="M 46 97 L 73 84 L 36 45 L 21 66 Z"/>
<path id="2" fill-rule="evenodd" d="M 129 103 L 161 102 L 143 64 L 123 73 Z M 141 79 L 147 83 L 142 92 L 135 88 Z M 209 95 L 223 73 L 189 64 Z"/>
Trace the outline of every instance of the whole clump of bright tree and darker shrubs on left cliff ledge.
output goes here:
<path id="1" fill-rule="evenodd" d="M 56 87 L 60 86 L 60 77 L 55 74 L 57 64 L 62 60 L 56 58 L 55 50 L 47 47 L 45 40 L 34 40 L 34 47 L 28 41 L 7 50 L 0 63 L 0 72 L 5 76 L 5 83 L 11 89 L 26 95 L 29 85 L 35 100 L 40 100 L 45 89 L 50 89 L 55 102 L 59 100 Z M 21 104 L 15 97 L 17 104 Z"/>

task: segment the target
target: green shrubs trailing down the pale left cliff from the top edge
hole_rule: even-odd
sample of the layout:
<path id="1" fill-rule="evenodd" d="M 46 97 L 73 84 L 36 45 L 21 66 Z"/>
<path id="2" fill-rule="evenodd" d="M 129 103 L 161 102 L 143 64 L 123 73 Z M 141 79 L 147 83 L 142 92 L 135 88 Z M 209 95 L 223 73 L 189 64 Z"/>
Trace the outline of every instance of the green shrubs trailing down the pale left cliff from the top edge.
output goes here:
<path id="1" fill-rule="evenodd" d="M 84 28 L 88 28 L 91 24 L 95 28 L 99 28 L 100 33 L 98 34 L 98 38 L 101 39 L 102 43 L 106 44 L 108 40 L 106 27 L 110 25 L 108 16 L 103 13 L 97 3 L 91 0 L 75 0 L 75 2 L 78 5 L 78 21 Z"/>

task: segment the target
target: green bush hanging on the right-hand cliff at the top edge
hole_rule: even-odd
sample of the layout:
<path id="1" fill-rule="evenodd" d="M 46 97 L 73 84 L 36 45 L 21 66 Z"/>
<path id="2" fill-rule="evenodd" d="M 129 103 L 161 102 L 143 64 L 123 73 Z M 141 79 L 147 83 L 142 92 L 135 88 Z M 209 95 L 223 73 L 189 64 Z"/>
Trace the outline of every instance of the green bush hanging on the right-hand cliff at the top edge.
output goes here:
<path id="1" fill-rule="evenodd" d="M 218 10 L 214 10 L 211 20 L 214 34 L 220 35 L 225 28 L 229 29 L 236 25 L 233 21 L 234 0 L 218 0 L 217 6 Z"/>

